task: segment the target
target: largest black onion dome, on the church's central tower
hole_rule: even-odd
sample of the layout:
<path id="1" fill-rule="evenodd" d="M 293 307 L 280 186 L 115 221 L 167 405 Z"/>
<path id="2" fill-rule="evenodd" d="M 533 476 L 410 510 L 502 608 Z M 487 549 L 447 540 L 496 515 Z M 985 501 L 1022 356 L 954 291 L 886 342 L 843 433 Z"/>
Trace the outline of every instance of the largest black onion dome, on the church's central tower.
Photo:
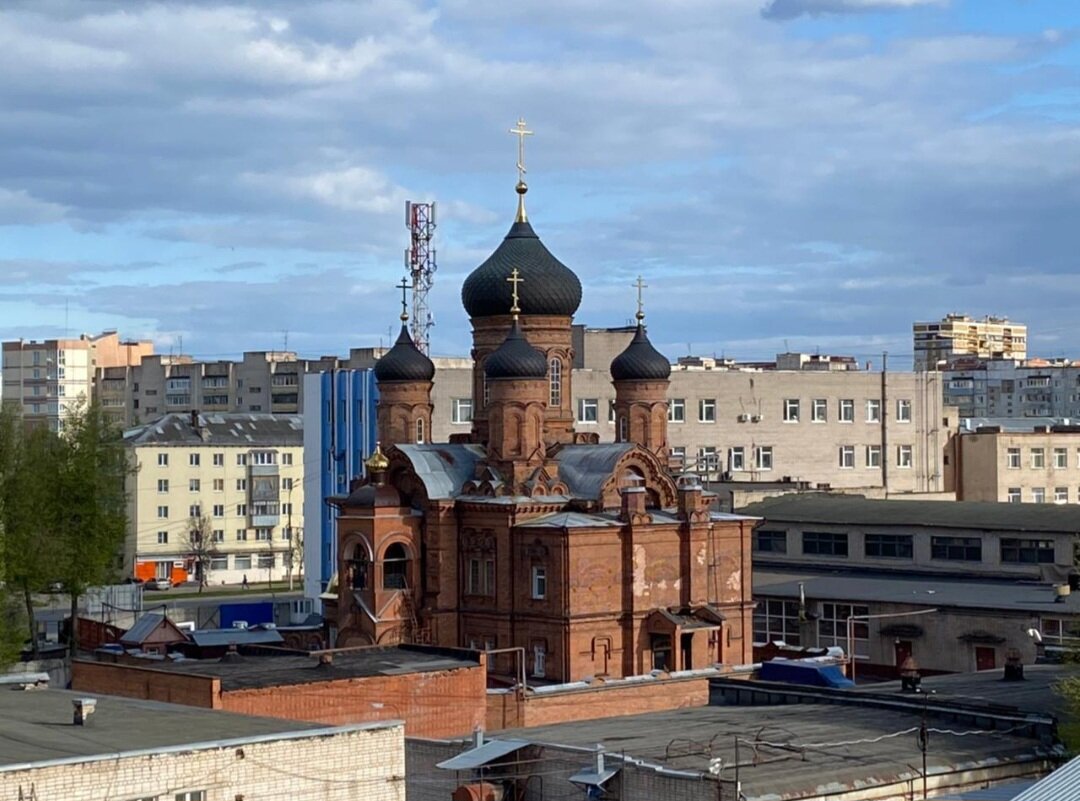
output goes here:
<path id="1" fill-rule="evenodd" d="M 461 302 L 470 317 L 494 317 L 513 303 L 507 279 L 517 268 L 522 314 L 572 316 L 581 306 L 581 282 L 551 255 L 528 222 L 515 222 L 487 260 L 461 286 Z"/>

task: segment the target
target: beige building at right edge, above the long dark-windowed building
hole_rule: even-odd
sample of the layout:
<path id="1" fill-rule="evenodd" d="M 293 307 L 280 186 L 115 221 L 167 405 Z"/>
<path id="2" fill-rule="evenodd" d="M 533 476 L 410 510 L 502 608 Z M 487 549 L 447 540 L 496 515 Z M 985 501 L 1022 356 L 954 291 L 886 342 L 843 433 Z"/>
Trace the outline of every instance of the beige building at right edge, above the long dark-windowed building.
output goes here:
<path id="1" fill-rule="evenodd" d="M 1080 425 L 987 425 L 957 438 L 957 498 L 1080 503 Z"/>

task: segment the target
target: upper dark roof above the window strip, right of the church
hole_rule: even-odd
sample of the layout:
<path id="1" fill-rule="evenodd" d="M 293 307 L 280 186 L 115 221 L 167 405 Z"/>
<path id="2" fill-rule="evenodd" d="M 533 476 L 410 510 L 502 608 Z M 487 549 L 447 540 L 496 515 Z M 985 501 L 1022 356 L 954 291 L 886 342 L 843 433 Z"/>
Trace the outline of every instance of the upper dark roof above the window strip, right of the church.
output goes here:
<path id="1" fill-rule="evenodd" d="M 924 526 L 989 531 L 1080 532 L 1080 505 L 975 501 L 885 501 L 862 495 L 800 493 L 767 498 L 739 510 L 766 524 Z"/>

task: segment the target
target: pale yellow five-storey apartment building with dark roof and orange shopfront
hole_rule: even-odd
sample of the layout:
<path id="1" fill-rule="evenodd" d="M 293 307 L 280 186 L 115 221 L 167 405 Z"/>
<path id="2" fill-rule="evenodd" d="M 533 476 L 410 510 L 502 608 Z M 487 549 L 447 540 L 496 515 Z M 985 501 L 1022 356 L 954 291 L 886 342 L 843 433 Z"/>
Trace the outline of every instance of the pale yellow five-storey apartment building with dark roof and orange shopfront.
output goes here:
<path id="1" fill-rule="evenodd" d="M 212 584 L 301 575 L 300 417 L 166 415 L 124 436 L 135 469 L 124 555 L 130 575 L 177 583 L 202 575 Z"/>

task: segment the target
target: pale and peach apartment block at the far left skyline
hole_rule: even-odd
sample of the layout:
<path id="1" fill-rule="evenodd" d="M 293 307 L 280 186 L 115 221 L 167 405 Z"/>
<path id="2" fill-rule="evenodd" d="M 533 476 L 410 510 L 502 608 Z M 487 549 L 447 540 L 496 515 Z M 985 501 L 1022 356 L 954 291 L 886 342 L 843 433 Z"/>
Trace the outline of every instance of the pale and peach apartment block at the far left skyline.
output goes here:
<path id="1" fill-rule="evenodd" d="M 59 431 L 70 408 L 93 395 L 103 369 L 130 369 L 153 353 L 149 341 L 122 341 L 116 331 L 73 339 L 10 340 L 3 343 L 5 404 L 17 404 L 35 425 Z"/>

